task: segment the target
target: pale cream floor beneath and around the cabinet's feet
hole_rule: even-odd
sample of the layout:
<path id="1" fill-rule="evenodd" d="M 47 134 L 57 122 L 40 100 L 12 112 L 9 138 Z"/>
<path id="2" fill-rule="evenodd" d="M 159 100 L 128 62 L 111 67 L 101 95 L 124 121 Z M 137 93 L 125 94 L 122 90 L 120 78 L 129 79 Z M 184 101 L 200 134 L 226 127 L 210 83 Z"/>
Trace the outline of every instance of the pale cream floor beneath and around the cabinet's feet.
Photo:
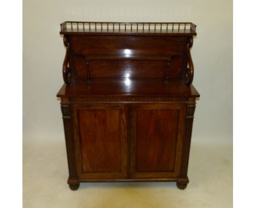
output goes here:
<path id="1" fill-rule="evenodd" d="M 232 144 L 192 142 L 189 185 L 172 182 L 82 183 L 71 191 L 61 139 L 24 144 L 24 207 L 232 207 Z"/>

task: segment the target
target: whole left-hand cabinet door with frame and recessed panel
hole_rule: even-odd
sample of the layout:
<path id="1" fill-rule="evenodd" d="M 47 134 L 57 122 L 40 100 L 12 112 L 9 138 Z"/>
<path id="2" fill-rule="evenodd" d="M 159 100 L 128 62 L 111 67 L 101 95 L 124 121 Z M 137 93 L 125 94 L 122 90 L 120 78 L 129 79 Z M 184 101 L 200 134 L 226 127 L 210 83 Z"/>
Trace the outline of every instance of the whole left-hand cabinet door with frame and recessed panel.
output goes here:
<path id="1" fill-rule="evenodd" d="M 72 104 L 77 174 L 82 181 L 127 178 L 127 105 Z"/>

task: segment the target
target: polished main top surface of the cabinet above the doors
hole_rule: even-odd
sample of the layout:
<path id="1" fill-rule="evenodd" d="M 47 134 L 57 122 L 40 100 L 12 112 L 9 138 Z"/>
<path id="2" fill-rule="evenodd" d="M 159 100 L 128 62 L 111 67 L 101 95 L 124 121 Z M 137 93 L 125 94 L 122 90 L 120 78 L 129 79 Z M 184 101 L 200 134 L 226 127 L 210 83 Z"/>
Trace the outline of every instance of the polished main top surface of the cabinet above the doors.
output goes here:
<path id="1" fill-rule="evenodd" d="M 184 96 L 199 97 L 194 86 L 185 85 L 181 79 L 165 82 L 162 78 L 92 78 L 90 82 L 63 84 L 58 97 L 75 96 Z"/>

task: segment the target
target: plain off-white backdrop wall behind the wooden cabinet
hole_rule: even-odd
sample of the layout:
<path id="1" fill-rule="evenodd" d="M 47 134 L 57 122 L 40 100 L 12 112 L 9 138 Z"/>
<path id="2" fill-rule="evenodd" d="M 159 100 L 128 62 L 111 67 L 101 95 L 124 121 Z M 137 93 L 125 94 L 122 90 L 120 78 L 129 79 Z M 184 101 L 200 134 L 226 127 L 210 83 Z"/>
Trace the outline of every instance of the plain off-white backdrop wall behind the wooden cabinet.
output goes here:
<path id="1" fill-rule="evenodd" d="M 232 142 L 232 1 L 24 0 L 24 142 L 62 139 L 63 21 L 193 22 L 197 102 L 193 140 Z"/>

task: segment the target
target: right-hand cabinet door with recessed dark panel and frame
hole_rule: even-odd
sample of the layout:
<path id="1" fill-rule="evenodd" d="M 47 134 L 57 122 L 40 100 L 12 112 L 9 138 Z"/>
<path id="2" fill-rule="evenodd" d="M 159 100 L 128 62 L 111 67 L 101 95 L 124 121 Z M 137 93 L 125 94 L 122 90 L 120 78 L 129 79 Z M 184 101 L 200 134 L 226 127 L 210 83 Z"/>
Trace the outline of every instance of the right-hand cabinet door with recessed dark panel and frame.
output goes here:
<path id="1" fill-rule="evenodd" d="M 130 114 L 130 178 L 176 179 L 182 160 L 185 103 L 134 103 Z"/>

